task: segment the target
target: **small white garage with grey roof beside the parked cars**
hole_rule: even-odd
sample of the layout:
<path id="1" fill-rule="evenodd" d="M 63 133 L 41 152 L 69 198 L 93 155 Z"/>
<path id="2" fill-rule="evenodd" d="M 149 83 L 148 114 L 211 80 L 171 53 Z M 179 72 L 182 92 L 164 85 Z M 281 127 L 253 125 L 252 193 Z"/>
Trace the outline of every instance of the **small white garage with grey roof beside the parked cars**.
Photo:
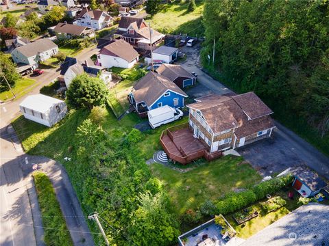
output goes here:
<path id="1" fill-rule="evenodd" d="M 153 51 L 153 61 L 162 61 L 166 64 L 172 64 L 174 61 L 177 60 L 178 57 L 178 49 L 169 46 L 160 46 L 158 49 Z M 151 55 L 147 55 L 145 58 L 146 63 L 151 63 Z"/>

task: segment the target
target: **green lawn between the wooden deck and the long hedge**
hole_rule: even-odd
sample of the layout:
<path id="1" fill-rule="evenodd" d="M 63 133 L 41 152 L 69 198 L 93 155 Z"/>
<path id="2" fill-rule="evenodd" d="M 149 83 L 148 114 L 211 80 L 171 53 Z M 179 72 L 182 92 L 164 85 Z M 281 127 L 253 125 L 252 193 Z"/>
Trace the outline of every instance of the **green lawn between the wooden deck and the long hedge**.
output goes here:
<path id="1" fill-rule="evenodd" d="M 255 169 L 241 157 L 234 156 L 223 156 L 186 173 L 154 163 L 151 172 L 167 189 L 178 215 L 183 215 L 188 208 L 197 208 L 206 200 L 216 200 L 228 191 L 261 180 Z"/>

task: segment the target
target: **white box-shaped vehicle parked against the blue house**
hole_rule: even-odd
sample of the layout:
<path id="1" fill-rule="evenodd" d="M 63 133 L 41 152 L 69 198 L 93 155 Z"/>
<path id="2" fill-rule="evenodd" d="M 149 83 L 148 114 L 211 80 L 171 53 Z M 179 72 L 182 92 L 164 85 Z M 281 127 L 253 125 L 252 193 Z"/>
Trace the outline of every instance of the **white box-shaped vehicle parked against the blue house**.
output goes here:
<path id="1" fill-rule="evenodd" d="M 181 119 L 183 117 L 183 112 L 180 109 L 173 109 L 172 107 L 165 105 L 158 109 L 147 111 L 147 116 L 149 118 L 149 125 L 151 128 L 156 128 L 162 124 L 167 124 L 169 122 L 173 122 L 174 120 Z"/>

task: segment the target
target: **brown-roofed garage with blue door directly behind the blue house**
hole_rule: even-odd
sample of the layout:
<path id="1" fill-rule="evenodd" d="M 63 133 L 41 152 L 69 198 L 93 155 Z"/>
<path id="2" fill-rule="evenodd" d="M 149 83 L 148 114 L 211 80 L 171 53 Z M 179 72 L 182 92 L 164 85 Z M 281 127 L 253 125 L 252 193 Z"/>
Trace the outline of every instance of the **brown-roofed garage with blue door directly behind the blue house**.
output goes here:
<path id="1" fill-rule="evenodd" d="M 181 89 L 186 86 L 195 85 L 197 81 L 197 77 L 180 65 L 162 64 L 156 72 L 173 81 Z"/>

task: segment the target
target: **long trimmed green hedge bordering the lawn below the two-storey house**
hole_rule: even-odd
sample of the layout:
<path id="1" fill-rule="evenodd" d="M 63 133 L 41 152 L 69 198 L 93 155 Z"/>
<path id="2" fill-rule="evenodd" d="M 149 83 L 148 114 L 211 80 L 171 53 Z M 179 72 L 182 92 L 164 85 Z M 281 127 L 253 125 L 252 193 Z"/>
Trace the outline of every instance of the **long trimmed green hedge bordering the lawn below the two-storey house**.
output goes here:
<path id="1" fill-rule="evenodd" d="M 260 199 L 263 199 L 267 194 L 276 193 L 276 191 L 286 187 L 293 182 L 293 176 L 288 175 L 280 178 L 272 178 L 271 180 L 260 182 L 251 189 L 241 191 L 239 193 L 228 193 L 221 199 L 217 200 L 212 206 L 210 202 L 205 202 L 201 206 L 202 213 L 206 215 L 233 213 L 236 210 L 242 209 L 249 204 L 253 204 Z"/>

